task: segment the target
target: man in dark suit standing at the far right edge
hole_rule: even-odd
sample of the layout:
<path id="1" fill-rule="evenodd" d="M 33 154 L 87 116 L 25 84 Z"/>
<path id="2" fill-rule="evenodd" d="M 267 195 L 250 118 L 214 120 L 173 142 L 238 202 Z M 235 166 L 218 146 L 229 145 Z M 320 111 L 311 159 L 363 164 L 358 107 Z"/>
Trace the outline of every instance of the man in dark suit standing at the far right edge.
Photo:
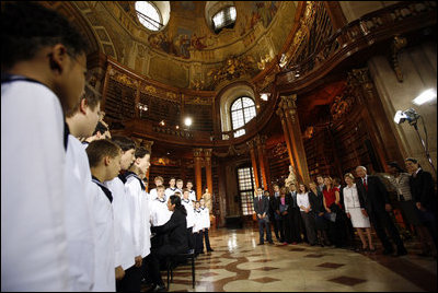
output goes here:
<path id="1" fill-rule="evenodd" d="M 410 171 L 411 192 L 415 200 L 415 206 L 420 221 L 429 231 L 430 237 L 434 239 L 435 249 L 429 245 L 434 257 L 437 257 L 437 194 L 435 190 L 431 174 L 424 171 L 418 161 L 414 157 L 405 160 L 407 169 Z M 426 234 L 427 235 L 427 234 Z M 425 251 L 429 254 L 428 251 Z"/>

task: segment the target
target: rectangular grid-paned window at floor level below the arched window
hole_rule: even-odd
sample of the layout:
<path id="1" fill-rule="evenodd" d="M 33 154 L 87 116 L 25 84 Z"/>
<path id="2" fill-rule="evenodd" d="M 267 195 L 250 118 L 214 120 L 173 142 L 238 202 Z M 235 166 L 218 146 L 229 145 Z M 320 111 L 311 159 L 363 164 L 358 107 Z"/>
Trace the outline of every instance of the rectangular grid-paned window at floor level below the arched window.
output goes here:
<path id="1" fill-rule="evenodd" d="M 243 215 L 254 212 L 254 176 L 252 167 L 238 168 L 239 192 Z"/>

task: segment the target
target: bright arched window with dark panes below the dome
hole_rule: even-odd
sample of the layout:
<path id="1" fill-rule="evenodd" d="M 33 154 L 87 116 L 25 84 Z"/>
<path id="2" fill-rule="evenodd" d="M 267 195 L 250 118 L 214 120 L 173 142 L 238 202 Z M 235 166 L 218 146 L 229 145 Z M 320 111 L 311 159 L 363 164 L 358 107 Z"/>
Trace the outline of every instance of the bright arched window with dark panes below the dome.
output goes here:
<path id="1" fill-rule="evenodd" d="M 251 97 L 242 96 L 231 104 L 231 122 L 233 129 L 238 129 L 239 127 L 244 126 L 254 117 L 255 104 Z M 234 138 L 243 136 L 244 133 L 244 129 L 235 131 Z"/>

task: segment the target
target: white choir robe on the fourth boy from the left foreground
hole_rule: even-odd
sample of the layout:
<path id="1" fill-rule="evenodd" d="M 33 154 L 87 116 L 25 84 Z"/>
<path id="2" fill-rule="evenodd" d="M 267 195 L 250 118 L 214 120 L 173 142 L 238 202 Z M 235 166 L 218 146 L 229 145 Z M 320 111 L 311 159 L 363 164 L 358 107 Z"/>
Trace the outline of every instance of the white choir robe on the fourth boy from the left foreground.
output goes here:
<path id="1" fill-rule="evenodd" d="M 115 177 L 112 180 L 105 181 L 104 185 L 113 195 L 114 267 L 122 266 L 124 270 L 127 270 L 135 265 L 136 257 L 129 198 L 126 195 L 125 185 L 120 178 Z"/>

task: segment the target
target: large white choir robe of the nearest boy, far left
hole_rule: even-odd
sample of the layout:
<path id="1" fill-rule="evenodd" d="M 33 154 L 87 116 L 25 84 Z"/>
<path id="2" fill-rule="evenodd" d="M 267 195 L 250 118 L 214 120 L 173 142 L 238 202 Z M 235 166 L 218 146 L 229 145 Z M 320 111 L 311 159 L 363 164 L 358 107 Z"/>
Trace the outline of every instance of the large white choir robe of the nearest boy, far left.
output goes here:
<path id="1" fill-rule="evenodd" d="M 2 83 L 1 291 L 71 291 L 64 128 L 61 105 L 48 87 Z"/>

